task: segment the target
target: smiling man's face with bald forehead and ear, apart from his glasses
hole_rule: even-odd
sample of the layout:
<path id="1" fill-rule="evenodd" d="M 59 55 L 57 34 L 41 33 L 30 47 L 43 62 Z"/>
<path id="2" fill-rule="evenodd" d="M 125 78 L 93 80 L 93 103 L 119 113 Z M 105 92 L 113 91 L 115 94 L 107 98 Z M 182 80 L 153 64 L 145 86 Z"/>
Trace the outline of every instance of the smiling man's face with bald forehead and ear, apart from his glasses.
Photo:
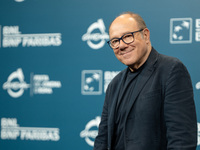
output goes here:
<path id="1" fill-rule="evenodd" d="M 122 15 L 116 18 L 110 26 L 110 39 L 120 38 L 126 33 L 138 31 L 140 28 L 135 19 L 130 15 Z M 149 40 L 149 30 L 146 28 L 141 32 L 134 33 L 134 42 L 130 44 L 120 40 L 118 48 L 113 49 L 115 56 L 123 64 L 131 69 L 138 69 L 148 58 L 151 47 Z"/>

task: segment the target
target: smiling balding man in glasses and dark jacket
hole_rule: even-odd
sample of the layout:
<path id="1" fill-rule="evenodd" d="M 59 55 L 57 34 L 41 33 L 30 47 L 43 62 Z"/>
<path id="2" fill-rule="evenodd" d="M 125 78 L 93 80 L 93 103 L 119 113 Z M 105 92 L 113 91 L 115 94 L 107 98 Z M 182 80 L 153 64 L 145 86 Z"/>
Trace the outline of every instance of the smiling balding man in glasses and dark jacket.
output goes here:
<path id="1" fill-rule="evenodd" d="M 143 19 L 127 12 L 108 42 L 128 67 L 109 84 L 94 150 L 195 150 L 197 121 L 186 67 L 159 54 Z"/>

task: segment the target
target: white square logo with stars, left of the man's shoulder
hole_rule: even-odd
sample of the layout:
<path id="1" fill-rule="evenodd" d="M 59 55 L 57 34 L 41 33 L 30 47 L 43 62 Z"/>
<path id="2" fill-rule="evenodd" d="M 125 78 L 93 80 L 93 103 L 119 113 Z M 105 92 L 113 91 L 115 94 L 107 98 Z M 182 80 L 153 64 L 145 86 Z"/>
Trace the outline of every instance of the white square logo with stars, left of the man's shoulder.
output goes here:
<path id="1" fill-rule="evenodd" d="M 83 70 L 82 90 L 83 95 L 100 95 L 102 93 L 102 71 Z"/>

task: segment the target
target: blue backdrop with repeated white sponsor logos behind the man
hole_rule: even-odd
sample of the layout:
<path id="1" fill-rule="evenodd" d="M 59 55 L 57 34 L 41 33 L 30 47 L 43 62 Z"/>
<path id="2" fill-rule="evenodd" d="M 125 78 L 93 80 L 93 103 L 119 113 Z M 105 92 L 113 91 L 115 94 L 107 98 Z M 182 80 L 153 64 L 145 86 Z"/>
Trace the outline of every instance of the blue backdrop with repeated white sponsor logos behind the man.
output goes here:
<path id="1" fill-rule="evenodd" d="M 188 68 L 200 136 L 199 0 L 1 0 L 1 150 L 93 149 L 105 90 L 126 67 L 106 43 L 125 11 Z"/>

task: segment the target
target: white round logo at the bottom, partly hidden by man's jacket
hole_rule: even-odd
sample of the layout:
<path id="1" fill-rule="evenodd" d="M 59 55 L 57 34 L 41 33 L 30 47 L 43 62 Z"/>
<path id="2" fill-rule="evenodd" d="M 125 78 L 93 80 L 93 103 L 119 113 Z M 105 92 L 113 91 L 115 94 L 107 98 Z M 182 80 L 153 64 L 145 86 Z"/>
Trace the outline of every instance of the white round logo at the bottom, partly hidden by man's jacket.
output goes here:
<path id="1" fill-rule="evenodd" d="M 90 146 L 94 146 L 94 139 L 98 135 L 98 128 L 100 121 L 101 117 L 97 116 L 95 119 L 88 122 L 87 125 L 85 126 L 85 129 L 80 133 L 80 137 L 85 138 L 85 141 Z M 93 128 L 96 128 L 96 130 L 94 130 Z"/>

